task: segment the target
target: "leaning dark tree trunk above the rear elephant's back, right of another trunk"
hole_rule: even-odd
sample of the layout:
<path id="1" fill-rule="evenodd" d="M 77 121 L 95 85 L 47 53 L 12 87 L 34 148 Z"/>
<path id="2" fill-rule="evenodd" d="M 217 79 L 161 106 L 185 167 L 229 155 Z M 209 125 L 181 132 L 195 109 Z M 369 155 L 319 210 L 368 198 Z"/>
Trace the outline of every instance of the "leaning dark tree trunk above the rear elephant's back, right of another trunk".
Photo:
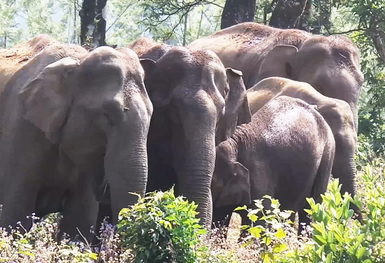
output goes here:
<path id="1" fill-rule="evenodd" d="M 282 29 L 295 28 L 304 13 L 306 2 L 306 0 L 277 1 L 269 25 Z"/>

